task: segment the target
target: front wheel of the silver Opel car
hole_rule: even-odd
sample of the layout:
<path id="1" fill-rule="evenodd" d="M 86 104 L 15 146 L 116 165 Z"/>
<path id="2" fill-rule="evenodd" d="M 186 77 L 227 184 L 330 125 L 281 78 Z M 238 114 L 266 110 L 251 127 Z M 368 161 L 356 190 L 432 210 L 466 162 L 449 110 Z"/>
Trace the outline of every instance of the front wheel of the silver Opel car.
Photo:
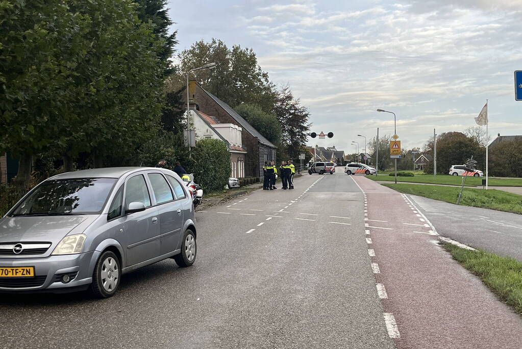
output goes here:
<path id="1" fill-rule="evenodd" d="M 94 267 L 91 292 L 98 298 L 114 296 L 120 286 L 120 276 L 120 260 L 112 251 L 103 252 Z"/>

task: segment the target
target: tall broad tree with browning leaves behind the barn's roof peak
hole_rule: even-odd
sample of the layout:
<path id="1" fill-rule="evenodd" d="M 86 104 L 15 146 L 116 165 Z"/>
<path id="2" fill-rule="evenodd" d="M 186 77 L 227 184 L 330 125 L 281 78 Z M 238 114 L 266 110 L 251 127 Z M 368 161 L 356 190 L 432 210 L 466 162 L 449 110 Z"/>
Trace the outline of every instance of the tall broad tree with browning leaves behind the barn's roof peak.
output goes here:
<path id="1" fill-rule="evenodd" d="M 263 111 L 274 109 L 276 92 L 274 85 L 257 63 L 252 49 L 233 45 L 229 49 L 221 40 L 195 42 L 191 48 L 178 55 L 180 74 L 208 63 L 216 63 L 216 69 L 202 69 L 194 77 L 204 89 L 227 102 L 232 108 L 242 103 L 257 104 Z M 177 90 L 185 85 L 185 75 L 179 75 L 173 85 Z"/>

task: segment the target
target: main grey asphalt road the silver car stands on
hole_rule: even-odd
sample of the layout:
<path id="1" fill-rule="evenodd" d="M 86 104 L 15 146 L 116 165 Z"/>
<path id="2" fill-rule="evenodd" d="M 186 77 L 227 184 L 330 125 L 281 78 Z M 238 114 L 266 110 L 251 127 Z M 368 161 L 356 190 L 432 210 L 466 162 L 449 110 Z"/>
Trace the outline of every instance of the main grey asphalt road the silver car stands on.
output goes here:
<path id="1" fill-rule="evenodd" d="M 0 347 L 394 347 L 360 189 L 343 173 L 295 188 L 198 212 L 196 263 L 127 274 L 112 298 L 2 295 Z"/>

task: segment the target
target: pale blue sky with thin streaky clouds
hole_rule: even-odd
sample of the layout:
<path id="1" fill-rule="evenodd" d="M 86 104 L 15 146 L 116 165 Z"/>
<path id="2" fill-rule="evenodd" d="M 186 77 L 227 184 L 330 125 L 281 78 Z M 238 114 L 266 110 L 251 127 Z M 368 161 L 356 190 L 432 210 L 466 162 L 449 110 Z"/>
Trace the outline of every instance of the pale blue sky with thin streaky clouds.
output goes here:
<path id="1" fill-rule="evenodd" d="M 522 134 L 522 0 L 169 1 L 182 51 L 221 39 L 252 48 L 311 113 L 309 145 L 354 153 L 393 135 L 403 148 L 463 132 L 489 99 L 489 133 Z M 219 97 L 219 96 L 218 96 Z"/>

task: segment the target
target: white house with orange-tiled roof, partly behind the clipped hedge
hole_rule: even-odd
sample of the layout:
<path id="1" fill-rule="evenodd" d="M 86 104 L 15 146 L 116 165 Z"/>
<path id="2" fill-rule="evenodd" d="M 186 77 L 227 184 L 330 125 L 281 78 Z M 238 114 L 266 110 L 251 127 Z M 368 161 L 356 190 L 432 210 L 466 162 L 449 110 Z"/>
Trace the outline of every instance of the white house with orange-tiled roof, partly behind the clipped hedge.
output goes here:
<path id="1" fill-rule="evenodd" d="M 245 177 L 245 154 L 247 152 L 242 147 L 242 127 L 231 123 L 221 124 L 216 118 L 195 109 L 191 109 L 191 120 L 196 139 L 220 139 L 228 146 L 230 152 L 230 176 L 234 178 Z"/>

